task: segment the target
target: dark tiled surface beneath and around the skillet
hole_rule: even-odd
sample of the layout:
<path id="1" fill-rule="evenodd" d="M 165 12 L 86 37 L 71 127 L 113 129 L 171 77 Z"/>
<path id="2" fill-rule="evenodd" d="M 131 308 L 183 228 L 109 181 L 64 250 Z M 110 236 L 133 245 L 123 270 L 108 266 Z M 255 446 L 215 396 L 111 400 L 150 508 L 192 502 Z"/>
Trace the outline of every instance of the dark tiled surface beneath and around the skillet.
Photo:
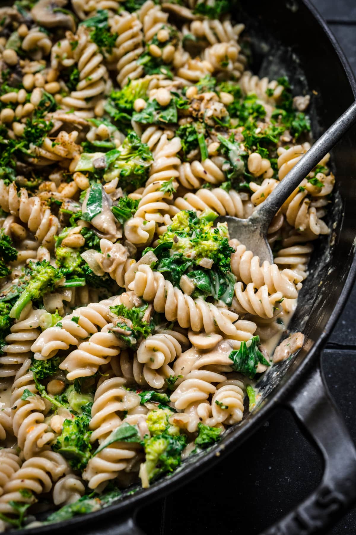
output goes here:
<path id="1" fill-rule="evenodd" d="M 356 73 L 356 0 L 312 1 Z M 356 286 L 323 351 L 322 368 L 356 442 L 355 318 Z M 322 468 L 319 453 L 292 416 L 278 409 L 250 440 L 211 471 L 141 509 L 138 523 L 147 535 L 258 534 L 318 485 Z M 355 535 L 356 508 L 327 534 Z"/>

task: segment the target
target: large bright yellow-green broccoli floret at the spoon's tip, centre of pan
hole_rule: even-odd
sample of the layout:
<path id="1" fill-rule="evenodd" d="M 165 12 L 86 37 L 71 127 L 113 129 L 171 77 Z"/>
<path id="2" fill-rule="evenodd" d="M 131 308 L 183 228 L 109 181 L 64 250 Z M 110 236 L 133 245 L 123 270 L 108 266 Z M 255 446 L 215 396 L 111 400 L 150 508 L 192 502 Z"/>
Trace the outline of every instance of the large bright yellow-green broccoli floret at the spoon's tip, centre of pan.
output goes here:
<path id="1" fill-rule="evenodd" d="M 181 254 L 199 265 L 203 258 L 209 258 L 217 268 L 226 273 L 230 270 L 230 257 L 234 249 L 228 244 L 226 225 L 213 227 L 217 213 L 204 211 L 198 217 L 196 212 L 182 210 L 172 219 L 167 232 L 159 243 L 171 242 L 171 255 Z"/>

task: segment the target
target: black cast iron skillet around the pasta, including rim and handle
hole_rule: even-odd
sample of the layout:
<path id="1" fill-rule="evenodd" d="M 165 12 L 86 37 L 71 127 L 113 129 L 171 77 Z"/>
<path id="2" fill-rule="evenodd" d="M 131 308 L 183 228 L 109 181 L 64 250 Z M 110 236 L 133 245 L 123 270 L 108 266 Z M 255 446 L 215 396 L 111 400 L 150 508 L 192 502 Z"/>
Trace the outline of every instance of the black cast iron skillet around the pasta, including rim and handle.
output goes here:
<path id="1" fill-rule="evenodd" d="M 254 50 L 255 72 L 259 70 L 262 75 L 274 77 L 280 75 L 284 65 L 285 73 L 301 90 L 307 82 L 309 90 L 318 93 L 311 110 L 314 125 L 318 119 L 321 130 L 326 129 L 354 100 L 356 83 L 325 21 L 309 0 L 247 0 L 242 1 L 242 7 L 247 19 L 251 16 L 258 21 L 258 29 L 252 24 L 251 35 L 255 34 L 264 43 L 260 51 L 256 47 Z M 263 60 L 266 46 L 270 53 Z M 319 135 L 321 130 L 315 131 L 314 127 L 314 134 Z M 262 380 L 263 402 L 259 410 L 254 414 L 246 411 L 241 425 L 228 430 L 215 447 L 188 458 L 179 471 L 148 489 L 126 496 L 96 513 L 43 528 L 21 530 L 21 533 L 80 531 L 87 535 L 143 535 L 135 524 L 135 510 L 211 468 L 226 452 L 249 438 L 271 411 L 281 405 L 294 412 L 304 432 L 319 446 L 325 469 L 318 488 L 264 535 L 325 532 L 353 505 L 356 501 L 356 450 L 323 380 L 320 351 L 344 307 L 356 272 L 355 147 L 356 131 L 352 129 L 333 151 L 337 193 L 330 225 L 332 228 L 335 223 L 335 232 L 315 250 L 311 276 L 305 281 L 299 308 L 290 326 L 292 331 L 302 329 L 305 333 L 304 348 L 291 361 L 273 368 Z"/>

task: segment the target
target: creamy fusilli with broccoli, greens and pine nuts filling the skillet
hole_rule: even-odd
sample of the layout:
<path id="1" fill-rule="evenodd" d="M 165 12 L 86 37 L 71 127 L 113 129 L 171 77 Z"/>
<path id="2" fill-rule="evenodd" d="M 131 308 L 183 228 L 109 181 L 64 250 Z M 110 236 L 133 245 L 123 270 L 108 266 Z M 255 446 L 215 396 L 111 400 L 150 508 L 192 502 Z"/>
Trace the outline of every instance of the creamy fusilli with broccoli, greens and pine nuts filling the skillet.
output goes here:
<path id="1" fill-rule="evenodd" d="M 310 95 L 249 70 L 225 1 L 0 12 L 6 530 L 42 498 L 54 522 L 148 487 L 254 409 L 303 346 L 288 322 L 335 179 L 328 155 L 284 202 L 273 264 L 217 223 L 312 142 Z"/>

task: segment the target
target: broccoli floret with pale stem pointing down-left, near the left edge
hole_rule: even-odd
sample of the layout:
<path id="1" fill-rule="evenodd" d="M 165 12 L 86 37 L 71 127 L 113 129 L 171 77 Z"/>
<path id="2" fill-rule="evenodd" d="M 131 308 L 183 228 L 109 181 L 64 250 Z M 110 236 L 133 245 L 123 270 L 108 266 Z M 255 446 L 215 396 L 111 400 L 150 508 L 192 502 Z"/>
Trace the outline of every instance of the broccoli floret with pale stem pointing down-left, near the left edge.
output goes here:
<path id="1" fill-rule="evenodd" d="M 28 285 L 23 290 L 19 299 L 10 311 L 10 317 L 19 319 L 23 308 L 29 301 L 34 301 L 42 297 L 45 293 L 51 292 L 56 284 L 63 278 L 60 270 L 43 260 L 42 262 L 30 262 L 30 279 Z"/>

